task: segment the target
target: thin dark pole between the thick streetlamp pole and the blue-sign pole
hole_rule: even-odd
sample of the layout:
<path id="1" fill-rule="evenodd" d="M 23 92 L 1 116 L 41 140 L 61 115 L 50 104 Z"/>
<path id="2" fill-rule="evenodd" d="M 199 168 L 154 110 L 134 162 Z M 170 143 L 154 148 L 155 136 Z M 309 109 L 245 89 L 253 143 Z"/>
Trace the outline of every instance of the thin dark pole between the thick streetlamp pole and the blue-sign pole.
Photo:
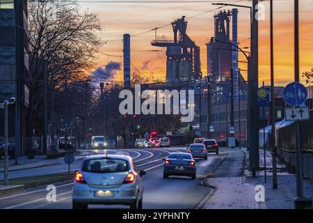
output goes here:
<path id="1" fill-rule="evenodd" d="M 273 160 L 273 189 L 278 189 L 277 164 L 276 164 L 276 132 L 275 132 L 275 86 L 274 86 L 274 49 L 273 49 L 273 0 L 270 1 L 271 14 L 271 144 Z M 265 144 L 265 142 L 264 142 Z M 264 148 L 265 150 L 265 148 Z M 265 161 L 264 161 L 265 162 Z"/>

